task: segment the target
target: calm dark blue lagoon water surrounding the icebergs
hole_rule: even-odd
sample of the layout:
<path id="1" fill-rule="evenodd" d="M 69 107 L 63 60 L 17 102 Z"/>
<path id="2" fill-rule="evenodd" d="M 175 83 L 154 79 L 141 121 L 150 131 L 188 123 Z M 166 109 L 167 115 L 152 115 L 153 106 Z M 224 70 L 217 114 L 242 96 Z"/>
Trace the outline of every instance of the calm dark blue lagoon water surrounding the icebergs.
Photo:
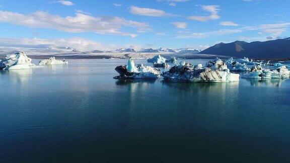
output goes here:
<path id="1" fill-rule="evenodd" d="M 126 62 L 0 71 L 1 162 L 290 161 L 290 80 L 113 79 Z"/>

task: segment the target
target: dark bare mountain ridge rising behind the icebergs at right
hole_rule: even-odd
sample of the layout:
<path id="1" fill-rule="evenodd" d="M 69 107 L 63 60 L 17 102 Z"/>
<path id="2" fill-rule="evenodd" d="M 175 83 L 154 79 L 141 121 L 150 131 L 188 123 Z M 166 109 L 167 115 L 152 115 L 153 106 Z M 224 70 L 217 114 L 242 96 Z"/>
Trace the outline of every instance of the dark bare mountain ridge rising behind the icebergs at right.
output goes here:
<path id="1" fill-rule="evenodd" d="M 245 41 L 219 43 L 201 51 L 200 54 L 250 58 L 290 58 L 290 38 L 250 43 Z"/>

